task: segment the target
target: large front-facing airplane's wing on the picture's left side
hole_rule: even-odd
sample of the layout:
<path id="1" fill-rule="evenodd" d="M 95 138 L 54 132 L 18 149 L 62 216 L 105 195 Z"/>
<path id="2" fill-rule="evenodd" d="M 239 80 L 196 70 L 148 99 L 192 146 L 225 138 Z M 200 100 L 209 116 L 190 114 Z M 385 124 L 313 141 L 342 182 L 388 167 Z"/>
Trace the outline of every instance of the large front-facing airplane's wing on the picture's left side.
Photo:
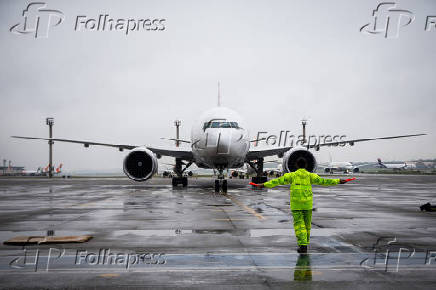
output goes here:
<path id="1" fill-rule="evenodd" d="M 19 139 L 76 143 L 76 144 L 82 144 L 85 147 L 89 147 L 90 145 L 115 147 L 115 148 L 118 148 L 120 151 L 123 151 L 124 149 L 132 150 L 136 147 L 139 147 L 138 145 L 108 144 L 108 143 L 99 143 L 99 142 L 81 141 L 81 140 L 70 140 L 70 139 L 59 139 L 59 138 L 38 138 L 38 137 L 23 137 L 23 136 L 11 136 L 11 137 L 12 138 L 19 138 Z M 160 148 L 152 148 L 152 147 L 147 147 L 147 146 L 146 146 L 146 148 L 149 149 L 150 151 L 152 151 L 153 153 L 158 154 L 158 155 L 162 155 L 162 156 L 182 158 L 185 160 L 192 160 L 194 158 L 192 155 L 192 151 L 190 151 L 190 150 L 184 150 L 184 149 L 179 149 L 179 148 L 160 149 Z"/>

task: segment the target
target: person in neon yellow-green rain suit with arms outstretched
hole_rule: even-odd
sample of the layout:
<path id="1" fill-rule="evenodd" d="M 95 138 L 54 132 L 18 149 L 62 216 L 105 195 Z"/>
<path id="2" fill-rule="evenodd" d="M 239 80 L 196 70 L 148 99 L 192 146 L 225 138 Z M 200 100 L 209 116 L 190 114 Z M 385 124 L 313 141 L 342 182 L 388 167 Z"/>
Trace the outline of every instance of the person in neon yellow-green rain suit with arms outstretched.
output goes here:
<path id="1" fill-rule="evenodd" d="M 298 253 L 307 253 L 307 245 L 310 242 L 310 228 L 312 223 L 313 194 L 312 184 L 317 185 L 336 185 L 343 184 L 352 179 L 327 179 L 321 178 L 315 173 L 308 172 L 306 161 L 297 160 L 297 170 L 285 173 L 283 176 L 271 179 L 263 184 L 254 184 L 257 187 L 275 187 L 277 185 L 291 184 L 291 211 L 294 218 L 294 231 L 297 237 Z"/>

